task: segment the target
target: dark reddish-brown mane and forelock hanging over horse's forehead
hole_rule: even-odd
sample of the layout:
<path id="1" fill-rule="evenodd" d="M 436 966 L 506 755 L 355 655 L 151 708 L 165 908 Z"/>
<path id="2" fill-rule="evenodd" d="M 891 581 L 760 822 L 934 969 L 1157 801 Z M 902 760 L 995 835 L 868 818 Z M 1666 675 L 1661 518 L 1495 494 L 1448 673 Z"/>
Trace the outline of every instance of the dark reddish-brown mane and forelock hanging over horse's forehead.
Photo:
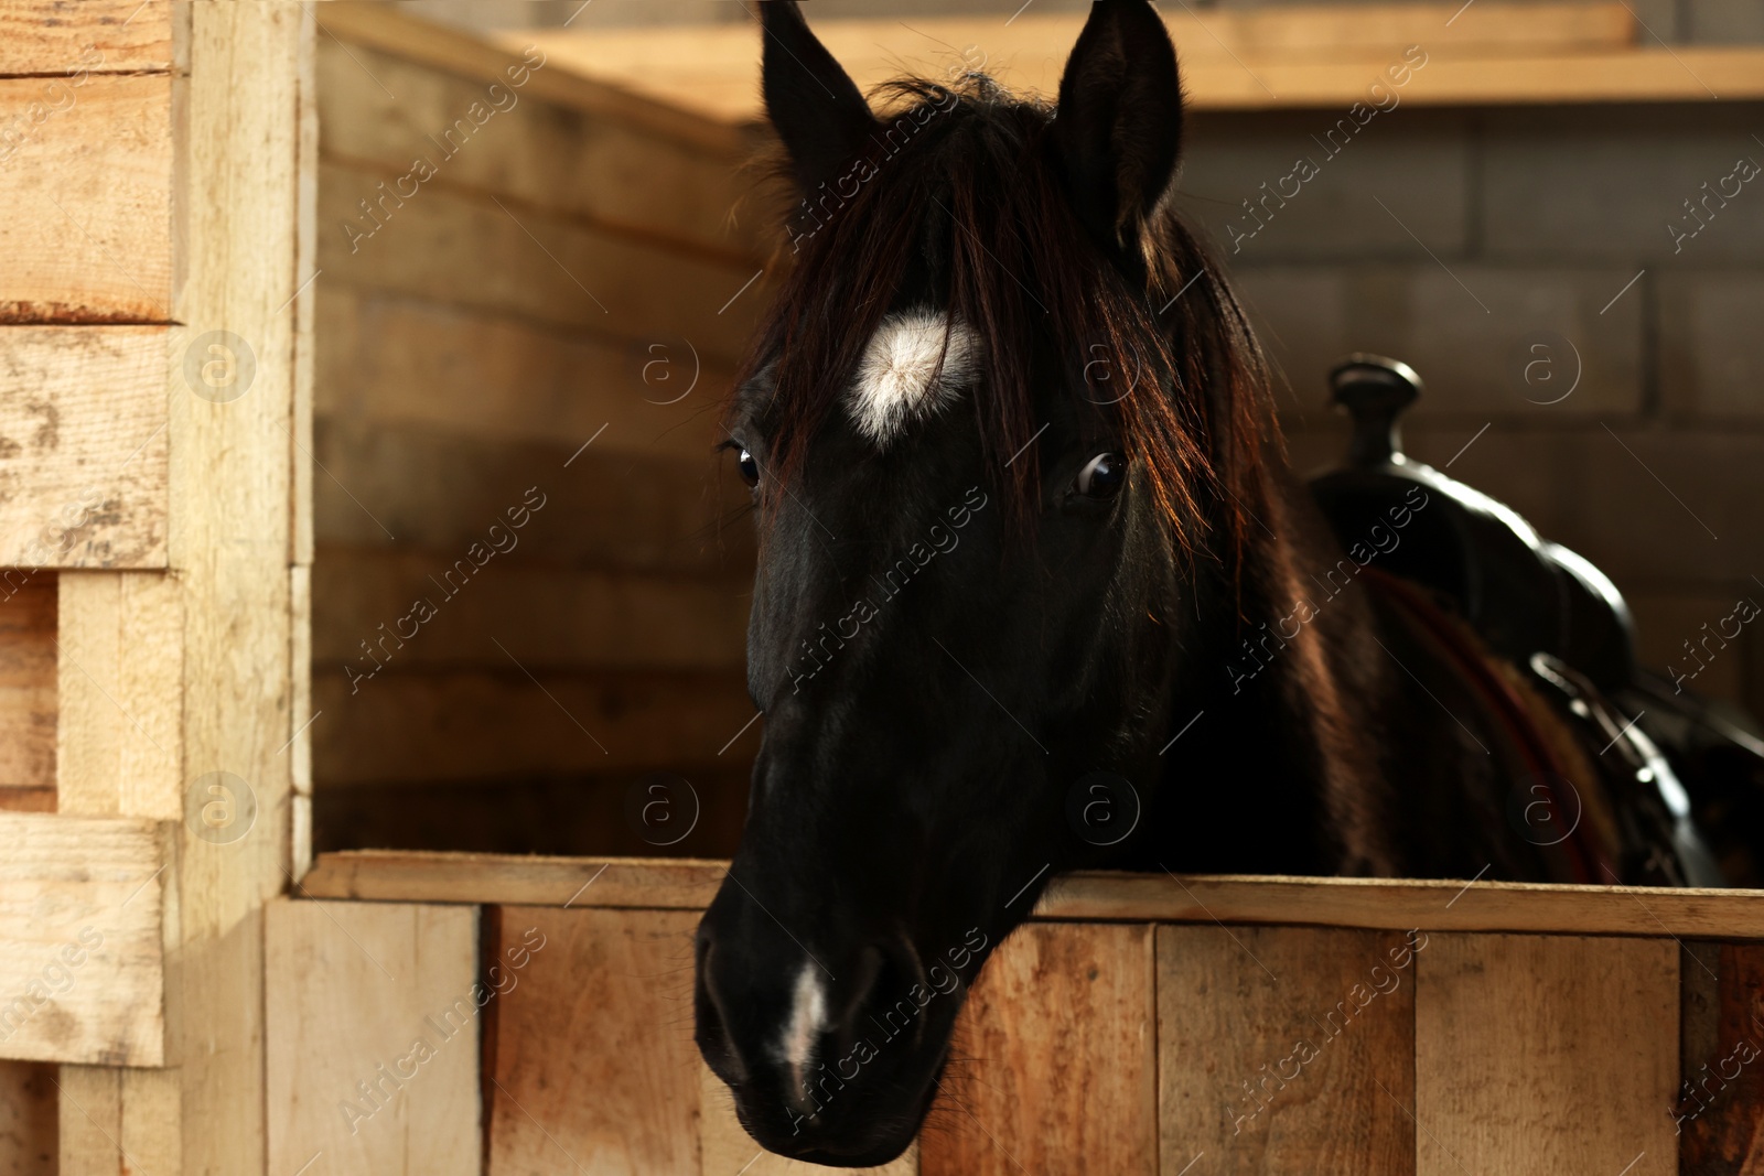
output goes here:
<path id="1" fill-rule="evenodd" d="M 1265 361 L 1201 243 L 1164 201 L 1141 234 L 1148 279 L 1134 289 L 1078 220 L 1050 106 L 977 74 L 880 93 L 887 113 L 864 157 L 873 178 L 859 180 L 854 164 L 804 201 L 813 219 L 794 226 L 797 264 L 741 372 L 743 383 L 771 383 L 760 409 L 767 476 L 799 467 L 917 257 L 937 272 L 951 314 L 979 333 L 986 374 L 972 402 L 1016 518 L 1034 517 L 1037 501 L 1025 446 L 1039 428 L 1039 347 L 1067 361 L 1094 400 L 1115 400 L 1106 411 L 1152 478 L 1173 538 L 1192 548 L 1210 517 L 1224 529 L 1210 547 L 1235 566 L 1249 502 L 1263 499 L 1268 443 L 1279 441 Z"/>

